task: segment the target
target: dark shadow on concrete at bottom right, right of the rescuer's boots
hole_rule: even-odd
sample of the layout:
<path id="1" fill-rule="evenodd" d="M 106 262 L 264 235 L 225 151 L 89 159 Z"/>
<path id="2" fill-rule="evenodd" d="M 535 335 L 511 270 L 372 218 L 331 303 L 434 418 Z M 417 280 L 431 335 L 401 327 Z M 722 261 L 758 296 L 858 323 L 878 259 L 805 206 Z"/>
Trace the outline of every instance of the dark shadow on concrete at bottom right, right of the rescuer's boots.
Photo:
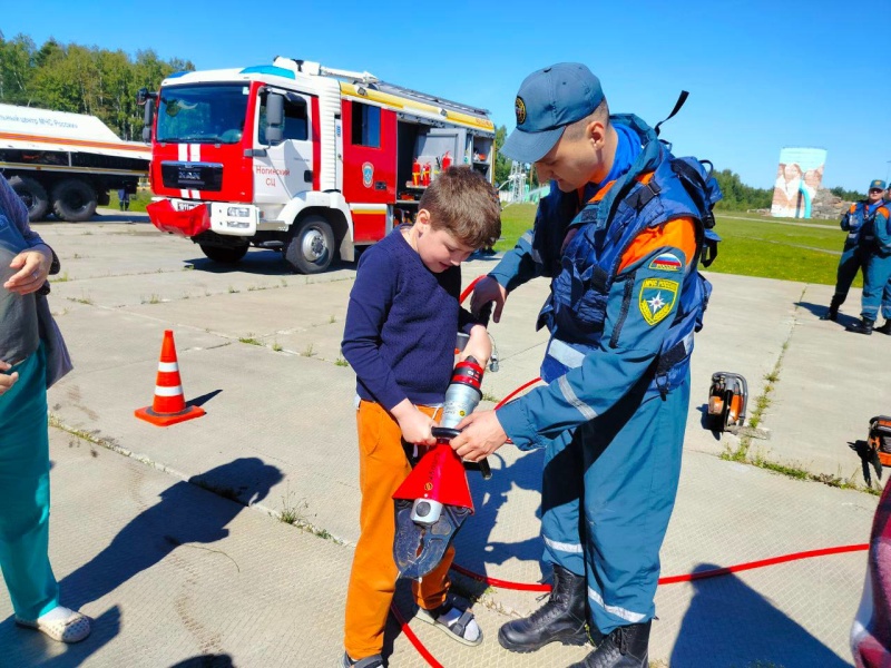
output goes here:
<path id="1" fill-rule="evenodd" d="M 701 563 L 694 572 L 716 568 Z M 695 580 L 693 587 L 695 593 L 672 650 L 672 668 L 850 666 L 736 576 Z M 845 629 L 850 622 L 838 620 Z"/>

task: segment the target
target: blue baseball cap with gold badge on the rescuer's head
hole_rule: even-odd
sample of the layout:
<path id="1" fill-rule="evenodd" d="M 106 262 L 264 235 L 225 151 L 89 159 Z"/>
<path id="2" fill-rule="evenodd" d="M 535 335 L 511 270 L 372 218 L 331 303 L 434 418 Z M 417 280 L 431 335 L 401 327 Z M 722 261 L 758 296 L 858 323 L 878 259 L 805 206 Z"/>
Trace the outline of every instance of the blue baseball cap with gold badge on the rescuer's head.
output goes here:
<path id="1" fill-rule="evenodd" d="M 600 80 L 579 62 L 558 62 L 532 72 L 520 85 L 515 129 L 501 153 L 518 163 L 537 163 L 557 144 L 569 124 L 604 101 Z"/>

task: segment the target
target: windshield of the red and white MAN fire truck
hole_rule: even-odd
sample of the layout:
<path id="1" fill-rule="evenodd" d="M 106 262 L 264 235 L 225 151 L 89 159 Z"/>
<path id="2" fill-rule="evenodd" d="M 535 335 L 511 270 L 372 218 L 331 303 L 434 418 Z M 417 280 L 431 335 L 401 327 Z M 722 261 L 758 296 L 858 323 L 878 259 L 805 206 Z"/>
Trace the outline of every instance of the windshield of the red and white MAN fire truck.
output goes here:
<path id="1" fill-rule="evenodd" d="M 163 88 L 156 141 L 237 144 L 244 132 L 247 92 L 241 84 Z"/>

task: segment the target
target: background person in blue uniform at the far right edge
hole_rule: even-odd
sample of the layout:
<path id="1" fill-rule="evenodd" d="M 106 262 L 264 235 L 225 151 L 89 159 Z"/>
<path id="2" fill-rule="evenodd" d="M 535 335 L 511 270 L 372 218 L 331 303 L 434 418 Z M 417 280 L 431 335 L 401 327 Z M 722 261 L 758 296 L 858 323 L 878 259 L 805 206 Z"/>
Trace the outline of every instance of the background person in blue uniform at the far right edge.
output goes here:
<path id="1" fill-rule="evenodd" d="M 863 297 L 861 299 L 860 322 L 845 327 L 856 334 L 872 334 L 872 327 L 882 305 L 882 295 L 888 289 L 891 279 L 891 214 L 884 206 L 882 194 L 885 189 L 883 180 L 875 179 L 870 184 L 871 216 L 864 218 L 860 243 L 868 254 L 863 271 Z M 875 202 L 873 203 L 873 198 Z M 891 318 L 891 312 L 882 313 L 885 320 Z M 883 325 L 883 333 L 891 325 Z"/>

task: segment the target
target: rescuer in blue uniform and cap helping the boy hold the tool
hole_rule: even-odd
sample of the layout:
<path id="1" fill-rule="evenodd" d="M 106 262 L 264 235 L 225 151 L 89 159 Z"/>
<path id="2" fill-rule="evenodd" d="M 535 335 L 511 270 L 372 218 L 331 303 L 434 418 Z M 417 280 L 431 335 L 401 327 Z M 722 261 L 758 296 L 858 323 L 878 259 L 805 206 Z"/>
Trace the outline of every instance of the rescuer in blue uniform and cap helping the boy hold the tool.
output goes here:
<path id="1" fill-rule="evenodd" d="M 646 667 L 659 547 L 681 474 L 693 333 L 707 294 L 697 271 L 705 214 L 686 194 L 708 199 L 706 179 L 682 187 L 681 163 L 688 163 L 638 117 L 610 116 L 584 65 L 527 77 L 515 111 L 502 151 L 533 163 L 551 194 L 533 229 L 478 284 L 471 308 L 495 302 L 498 322 L 513 289 L 551 278 L 538 320 L 551 334 L 547 385 L 472 413 L 452 445 L 470 461 L 508 438 L 545 449 L 541 533 L 554 589 L 498 639 L 520 652 L 584 645 L 588 622 L 597 648 L 575 666 Z"/>

